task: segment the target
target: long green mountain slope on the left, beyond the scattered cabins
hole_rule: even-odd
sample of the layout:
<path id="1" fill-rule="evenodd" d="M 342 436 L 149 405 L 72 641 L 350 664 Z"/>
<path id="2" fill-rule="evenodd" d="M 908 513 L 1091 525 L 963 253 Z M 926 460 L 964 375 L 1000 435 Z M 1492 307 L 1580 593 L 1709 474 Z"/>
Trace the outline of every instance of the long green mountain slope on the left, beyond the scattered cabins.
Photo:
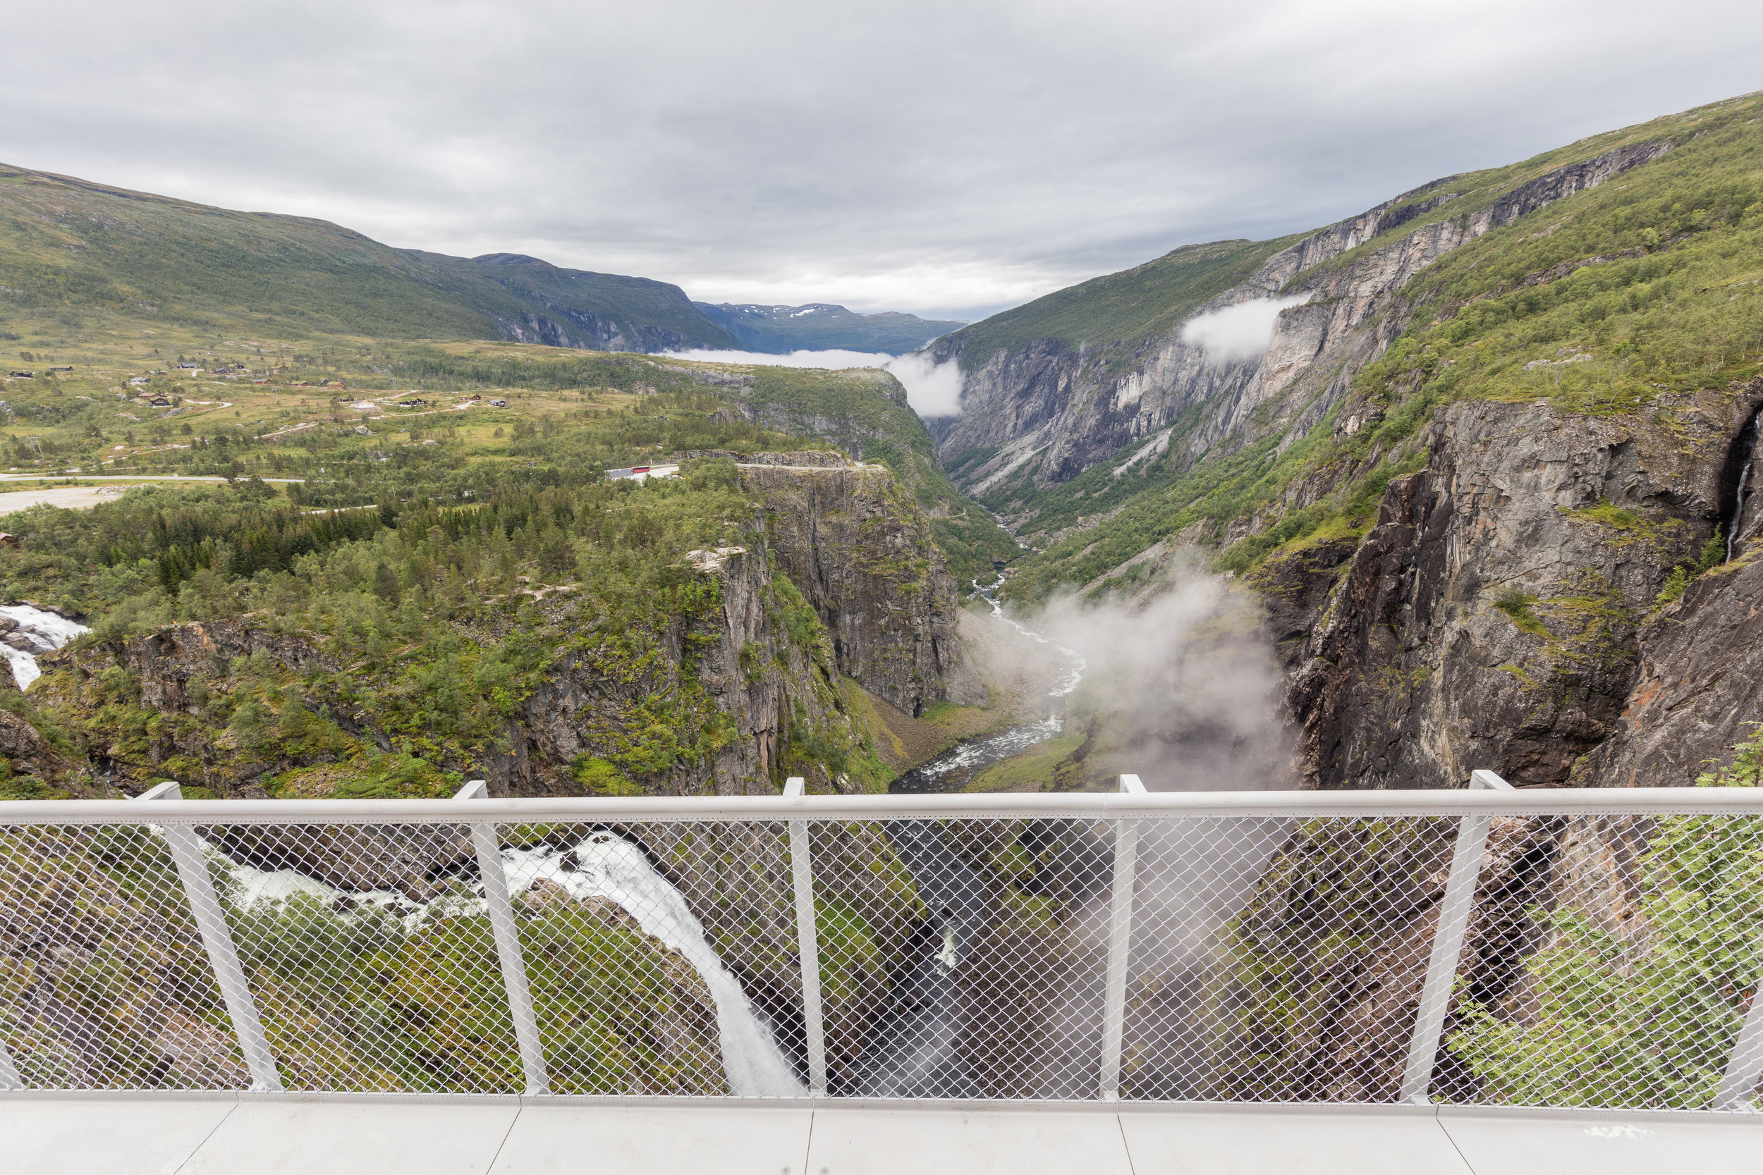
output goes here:
<path id="1" fill-rule="evenodd" d="M 272 338 L 735 345 L 665 282 L 391 248 L 324 220 L 0 166 L 0 321 L 44 310 Z"/>

